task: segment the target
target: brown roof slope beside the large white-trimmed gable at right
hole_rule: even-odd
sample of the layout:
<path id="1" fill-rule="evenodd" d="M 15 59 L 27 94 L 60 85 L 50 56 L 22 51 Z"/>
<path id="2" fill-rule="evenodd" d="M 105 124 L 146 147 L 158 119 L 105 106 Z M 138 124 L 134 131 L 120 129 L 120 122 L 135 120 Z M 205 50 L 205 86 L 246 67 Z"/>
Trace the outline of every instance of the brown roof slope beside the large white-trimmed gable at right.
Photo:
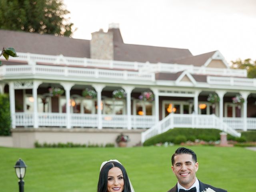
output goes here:
<path id="1" fill-rule="evenodd" d="M 217 51 L 212 51 L 212 52 L 208 52 L 208 53 L 204 53 L 196 56 L 190 56 L 184 59 L 176 60 L 175 62 L 177 64 L 202 66 L 206 63 L 206 61 L 209 58 L 211 58 L 214 55 L 215 52 Z"/>

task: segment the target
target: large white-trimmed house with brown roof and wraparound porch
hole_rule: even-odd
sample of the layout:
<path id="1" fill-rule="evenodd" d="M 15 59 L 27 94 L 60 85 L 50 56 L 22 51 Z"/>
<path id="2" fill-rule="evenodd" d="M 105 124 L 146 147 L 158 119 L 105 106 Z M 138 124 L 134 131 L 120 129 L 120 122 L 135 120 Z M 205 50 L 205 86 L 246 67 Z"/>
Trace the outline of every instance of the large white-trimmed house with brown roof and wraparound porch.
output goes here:
<path id="1" fill-rule="evenodd" d="M 118 24 L 93 32 L 91 40 L 0 30 L 0 46 L 19 55 L 0 58 L 13 146 L 95 137 L 114 143 L 120 132 L 135 145 L 173 127 L 234 136 L 256 129 L 256 79 L 231 69 L 218 50 L 194 56 L 188 49 L 126 44 Z"/>

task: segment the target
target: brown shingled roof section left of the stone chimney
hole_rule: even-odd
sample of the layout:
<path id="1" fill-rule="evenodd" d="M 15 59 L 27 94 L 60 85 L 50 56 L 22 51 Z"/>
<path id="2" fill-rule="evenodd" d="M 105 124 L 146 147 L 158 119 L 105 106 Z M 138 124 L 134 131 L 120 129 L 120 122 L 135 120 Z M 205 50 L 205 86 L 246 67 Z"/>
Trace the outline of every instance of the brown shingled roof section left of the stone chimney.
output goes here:
<path id="1" fill-rule="evenodd" d="M 90 58 L 90 40 L 50 34 L 0 30 L 0 46 L 13 47 L 16 52 Z"/>

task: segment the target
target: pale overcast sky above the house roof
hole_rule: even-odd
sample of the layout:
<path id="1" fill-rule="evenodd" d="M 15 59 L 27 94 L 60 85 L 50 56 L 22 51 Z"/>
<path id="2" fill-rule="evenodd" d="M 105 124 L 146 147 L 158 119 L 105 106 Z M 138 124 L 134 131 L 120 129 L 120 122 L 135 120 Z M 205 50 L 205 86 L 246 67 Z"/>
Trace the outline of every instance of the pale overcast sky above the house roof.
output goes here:
<path id="1" fill-rule="evenodd" d="M 226 60 L 256 60 L 256 0 L 64 0 L 73 38 L 119 23 L 125 43 L 219 50 Z"/>

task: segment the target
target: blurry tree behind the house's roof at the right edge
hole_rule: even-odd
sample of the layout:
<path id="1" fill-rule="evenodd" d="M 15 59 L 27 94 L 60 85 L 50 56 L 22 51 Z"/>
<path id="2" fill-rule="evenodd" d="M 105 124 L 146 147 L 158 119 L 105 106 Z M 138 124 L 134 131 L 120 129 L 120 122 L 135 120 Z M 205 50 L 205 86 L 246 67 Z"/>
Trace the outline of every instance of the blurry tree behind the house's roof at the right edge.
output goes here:
<path id="1" fill-rule="evenodd" d="M 232 62 L 232 68 L 234 69 L 246 69 L 248 78 L 256 78 L 256 60 L 248 58 L 245 60 L 237 59 Z"/>

